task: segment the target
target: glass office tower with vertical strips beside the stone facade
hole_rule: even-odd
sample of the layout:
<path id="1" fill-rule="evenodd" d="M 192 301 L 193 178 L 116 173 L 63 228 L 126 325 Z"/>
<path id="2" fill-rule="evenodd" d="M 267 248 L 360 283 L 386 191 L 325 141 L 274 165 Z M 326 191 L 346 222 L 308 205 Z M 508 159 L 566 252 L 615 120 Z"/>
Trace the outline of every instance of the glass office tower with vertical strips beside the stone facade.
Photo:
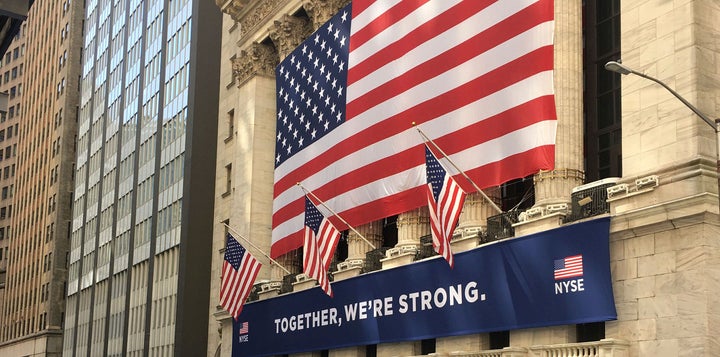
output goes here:
<path id="1" fill-rule="evenodd" d="M 205 353 L 219 26 L 208 1 L 86 3 L 64 356 Z"/>

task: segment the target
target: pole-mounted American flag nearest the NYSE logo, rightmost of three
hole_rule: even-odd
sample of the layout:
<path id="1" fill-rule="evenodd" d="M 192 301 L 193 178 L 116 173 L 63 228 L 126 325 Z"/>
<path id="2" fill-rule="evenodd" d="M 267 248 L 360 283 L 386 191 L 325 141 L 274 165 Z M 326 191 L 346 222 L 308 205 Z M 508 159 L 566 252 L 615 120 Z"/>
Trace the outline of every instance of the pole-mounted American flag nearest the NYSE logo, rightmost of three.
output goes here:
<path id="1" fill-rule="evenodd" d="M 442 255 L 452 268 L 455 266 L 450 240 L 462 205 L 465 202 L 465 192 L 447 174 L 440 162 L 429 148 L 425 147 L 425 160 L 427 171 L 427 200 L 430 208 L 430 227 L 433 237 L 433 248 Z"/>

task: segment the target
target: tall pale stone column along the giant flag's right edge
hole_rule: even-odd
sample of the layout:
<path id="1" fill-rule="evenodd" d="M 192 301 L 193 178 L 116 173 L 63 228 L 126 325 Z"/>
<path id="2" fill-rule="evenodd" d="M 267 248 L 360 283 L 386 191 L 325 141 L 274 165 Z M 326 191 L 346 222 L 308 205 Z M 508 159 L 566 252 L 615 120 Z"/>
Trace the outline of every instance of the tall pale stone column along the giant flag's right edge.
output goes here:
<path id="1" fill-rule="evenodd" d="M 583 169 L 582 4 L 555 1 L 555 169 L 535 175 L 535 206 L 515 235 L 557 227 L 569 213 L 570 193 L 585 179 Z"/>

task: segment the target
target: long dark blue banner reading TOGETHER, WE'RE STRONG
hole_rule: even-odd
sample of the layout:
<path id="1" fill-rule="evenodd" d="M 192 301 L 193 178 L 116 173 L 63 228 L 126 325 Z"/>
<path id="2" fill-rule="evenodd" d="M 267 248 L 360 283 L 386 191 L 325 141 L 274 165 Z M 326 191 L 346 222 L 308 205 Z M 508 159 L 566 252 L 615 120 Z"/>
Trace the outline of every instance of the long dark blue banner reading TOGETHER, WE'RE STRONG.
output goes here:
<path id="1" fill-rule="evenodd" d="M 245 305 L 233 356 L 266 356 L 617 318 L 609 218 Z"/>

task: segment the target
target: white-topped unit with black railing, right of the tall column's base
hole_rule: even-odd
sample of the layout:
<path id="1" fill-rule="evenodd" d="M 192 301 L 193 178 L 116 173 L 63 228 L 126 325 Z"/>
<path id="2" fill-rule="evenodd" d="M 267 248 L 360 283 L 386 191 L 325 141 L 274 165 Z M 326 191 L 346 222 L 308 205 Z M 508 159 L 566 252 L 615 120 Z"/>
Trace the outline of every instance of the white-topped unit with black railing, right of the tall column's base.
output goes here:
<path id="1" fill-rule="evenodd" d="M 610 190 L 621 186 L 617 185 L 619 180 L 619 177 L 608 177 L 573 188 L 570 195 L 571 211 L 570 215 L 565 218 L 565 222 L 609 213 L 610 205 L 607 200 Z M 627 192 L 627 188 L 620 191 Z"/>

